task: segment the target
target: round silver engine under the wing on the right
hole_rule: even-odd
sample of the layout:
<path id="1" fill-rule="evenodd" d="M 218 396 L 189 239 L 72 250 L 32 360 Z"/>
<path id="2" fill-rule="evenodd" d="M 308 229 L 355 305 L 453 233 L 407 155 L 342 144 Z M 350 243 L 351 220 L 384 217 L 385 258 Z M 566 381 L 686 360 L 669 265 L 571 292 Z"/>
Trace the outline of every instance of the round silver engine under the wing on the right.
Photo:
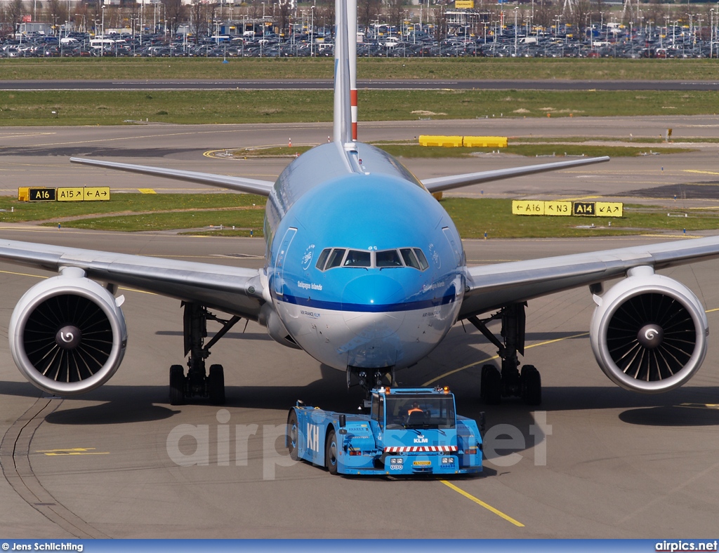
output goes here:
<path id="1" fill-rule="evenodd" d="M 682 386 L 699 370 L 707 351 L 707 317 L 684 284 L 641 266 L 594 299 L 592 350 L 615 384 L 656 393 Z"/>

